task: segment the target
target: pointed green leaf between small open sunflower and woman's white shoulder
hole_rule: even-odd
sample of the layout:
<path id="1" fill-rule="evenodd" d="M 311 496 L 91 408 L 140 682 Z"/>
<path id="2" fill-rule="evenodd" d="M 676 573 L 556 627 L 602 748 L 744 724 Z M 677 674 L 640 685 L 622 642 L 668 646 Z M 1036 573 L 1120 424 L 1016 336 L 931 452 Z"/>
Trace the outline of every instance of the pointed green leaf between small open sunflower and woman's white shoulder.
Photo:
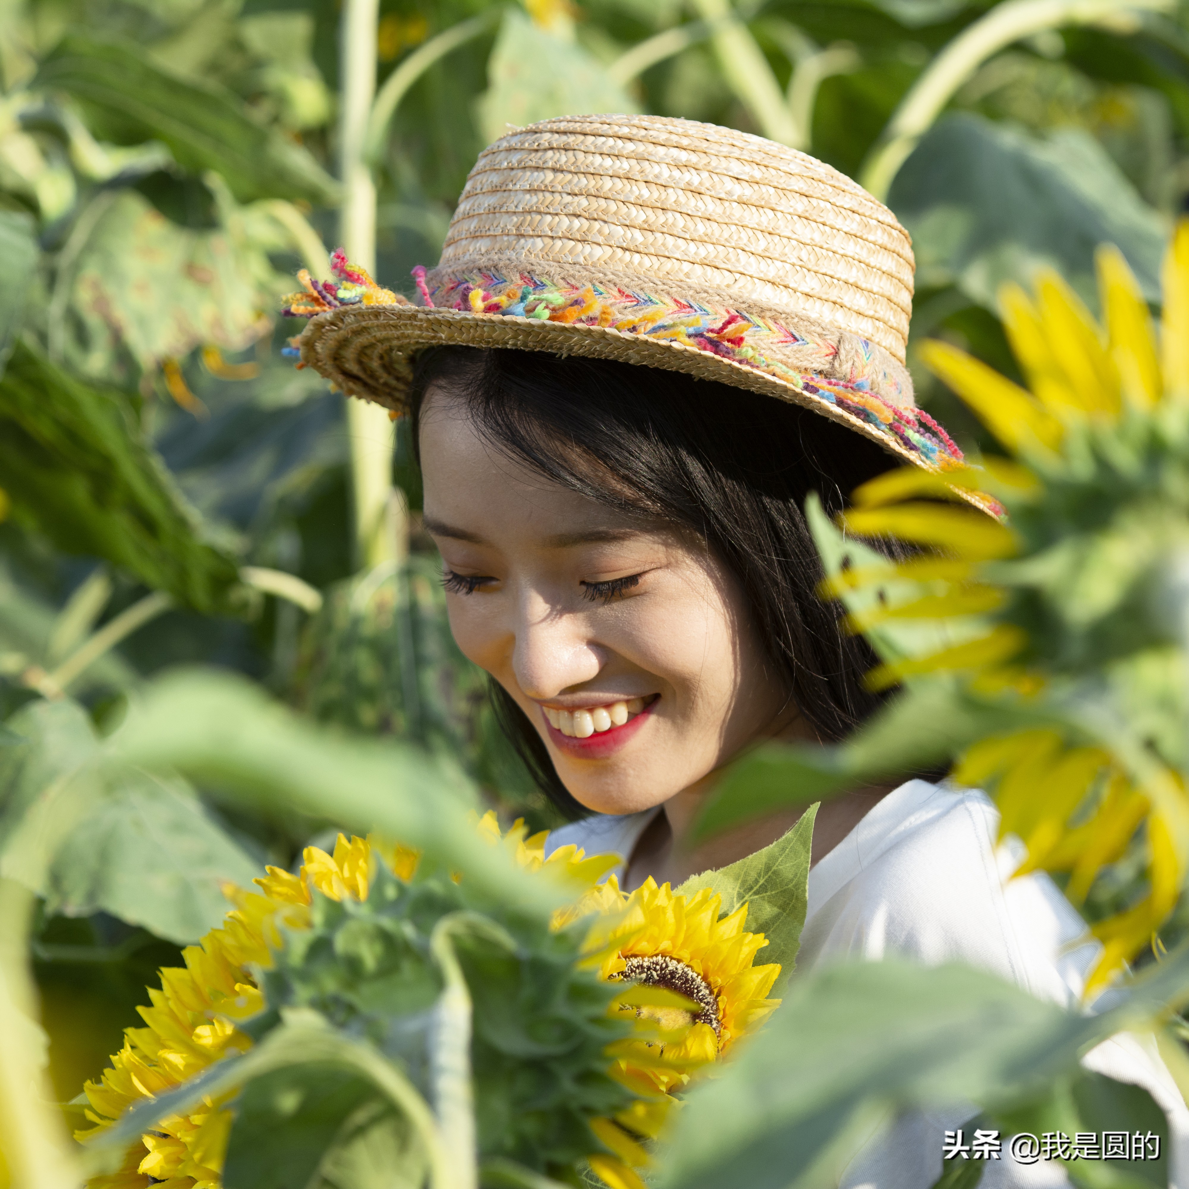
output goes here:
<path id="1" fill-rule="evenodd" d="M 748 906 L 748 931 L 768 938 L 756 961 L 779 962 L 781 967 L 773 988 L 775 994 L 797 967 L 809 900 L 810 851 L 817 810 L 817 805 L 811 805 L 797 825 L 754 855 L 694 875 L 677 889 L 681 895 L 692 895 L 712 888 L 723 898 L 724 913 L 735 912 L 743 904 Z"/>

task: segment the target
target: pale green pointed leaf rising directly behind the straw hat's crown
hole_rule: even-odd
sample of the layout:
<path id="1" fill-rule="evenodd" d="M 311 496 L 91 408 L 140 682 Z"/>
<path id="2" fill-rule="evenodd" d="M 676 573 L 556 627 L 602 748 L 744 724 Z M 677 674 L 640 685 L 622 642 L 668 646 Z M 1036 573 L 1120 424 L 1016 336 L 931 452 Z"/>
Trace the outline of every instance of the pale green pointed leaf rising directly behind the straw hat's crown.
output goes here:
<path id="1" fill-rule="evenodd" d="M 487 59 L 490 86 L 479 97 L 487 141 L 552 115 L 638 112 L 638 105 L 580 45 L 537 29 L 509 7 Z"/>

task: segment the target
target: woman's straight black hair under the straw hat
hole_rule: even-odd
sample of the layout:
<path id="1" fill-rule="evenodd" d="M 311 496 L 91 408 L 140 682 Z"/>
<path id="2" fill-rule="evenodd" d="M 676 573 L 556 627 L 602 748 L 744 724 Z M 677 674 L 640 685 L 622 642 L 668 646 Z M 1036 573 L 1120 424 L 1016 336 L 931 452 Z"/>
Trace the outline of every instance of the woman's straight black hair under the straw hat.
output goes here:
<path id="1" fill-rule="evenodd" d="M 545 477 L 604 504 L 697 534 L 743 591 L 788 703 L 823 741 L 848 735 L 881 696 L 875 658 L 818 593 L 822 562 L 801 509 L 831 515 L 894 465 L 880 446 L 799 405 L 713 380 L 609 359 L 510 348 L 432 347 L 415 360 L 413 442 L 426 392 L 448 388 L 479 433 Z M 528 716 L 498 685 L 503 730 L 546 795 L 566 791 Z"/>

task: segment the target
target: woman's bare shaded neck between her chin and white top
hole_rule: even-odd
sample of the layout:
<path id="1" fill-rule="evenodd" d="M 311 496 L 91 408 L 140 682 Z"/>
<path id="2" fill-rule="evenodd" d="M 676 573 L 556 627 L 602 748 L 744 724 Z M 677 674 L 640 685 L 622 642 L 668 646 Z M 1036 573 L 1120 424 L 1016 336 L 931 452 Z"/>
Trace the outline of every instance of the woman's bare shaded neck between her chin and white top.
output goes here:
<path id="1" fill-rule="evenodd" d="M 624 873 L 623 886 L 638 887 L 650 875 L 658 883 L 677 887 L 691 875 L 726 867 L 775 842 L 805 812 L 804 805 L 751 818 L 740 825 L 696 839 L 694 823 L 706 803 L 713 775 L 671 797 L 640 836 Z M 885 798 L 894 785 L 868 785 L 822 803 L 813 823 L 810 866 L 828 855 Z"/>

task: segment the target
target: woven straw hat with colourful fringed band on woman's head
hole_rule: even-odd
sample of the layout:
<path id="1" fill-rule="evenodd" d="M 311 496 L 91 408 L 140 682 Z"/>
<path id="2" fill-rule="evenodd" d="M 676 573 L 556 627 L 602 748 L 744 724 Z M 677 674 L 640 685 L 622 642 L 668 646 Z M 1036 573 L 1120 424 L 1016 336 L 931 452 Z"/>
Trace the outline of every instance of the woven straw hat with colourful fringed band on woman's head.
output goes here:
<path id="1" fill-rule="evenodd" d="M 829 165 L 655 115 L 572 115 L 485 149 L 422 304 L 335 253 L 291 353 L 403 411 L 435 344 L 621 359 L 792 401 L 929 470 L 961 461 L 904 366 L 908 233 Z"/>

